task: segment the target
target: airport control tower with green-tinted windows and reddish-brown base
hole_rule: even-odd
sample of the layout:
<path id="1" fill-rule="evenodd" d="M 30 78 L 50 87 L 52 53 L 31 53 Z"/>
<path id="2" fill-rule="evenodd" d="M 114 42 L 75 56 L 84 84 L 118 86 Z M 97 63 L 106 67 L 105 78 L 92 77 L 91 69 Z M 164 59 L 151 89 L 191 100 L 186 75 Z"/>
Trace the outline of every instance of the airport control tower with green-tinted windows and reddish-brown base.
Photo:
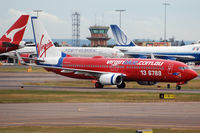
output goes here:
<path id="1" fill-rule="evenodd" d="M 91 37 L 87 39 L 91 41 L 91 47 L 107 46 L 107 41 L 110 39 L 107 34 L 108 29 L 107 26 L 90 26 Z"/>

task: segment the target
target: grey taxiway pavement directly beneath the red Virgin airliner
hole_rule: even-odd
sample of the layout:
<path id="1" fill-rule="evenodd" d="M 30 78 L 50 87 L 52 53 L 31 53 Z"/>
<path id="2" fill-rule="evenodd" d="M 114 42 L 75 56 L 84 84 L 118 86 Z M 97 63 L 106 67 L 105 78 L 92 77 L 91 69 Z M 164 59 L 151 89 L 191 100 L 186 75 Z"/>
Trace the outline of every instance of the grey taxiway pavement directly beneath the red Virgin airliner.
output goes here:
<path id="1" fill-rule="evenodd" d="M 50 82 L 50 81 L 77 81 L 79 79 L 73 79 L 68 77 L 63 77 L 51 72 L 0 72 L 0 89 L 23 89 L 27 90 L 62 90 L 62 91 L 135 91 L 135 92 L 169 92 L 169 93 L 200 93 L 200 89 L 197 90 L 175 90 L 175 89 L 150 89 L 150 88 L 109 88 L 104 87 L 103 89 L 96 89 L 94 87 L 70 87 L 70 86 L 33 86 L 24 85 L 25 82 Z"/>

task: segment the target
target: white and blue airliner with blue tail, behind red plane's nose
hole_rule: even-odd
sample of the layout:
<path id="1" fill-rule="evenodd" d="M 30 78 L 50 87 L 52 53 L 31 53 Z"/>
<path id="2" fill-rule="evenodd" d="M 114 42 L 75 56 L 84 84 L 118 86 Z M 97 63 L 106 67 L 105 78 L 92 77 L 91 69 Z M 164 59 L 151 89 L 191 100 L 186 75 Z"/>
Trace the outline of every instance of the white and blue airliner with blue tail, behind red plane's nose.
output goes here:
<path id="1" fill-rule="evenodd" d="M 122 32 L 117 25 L 110 25 L 114 39 L 119 49 L 125 55 L 136 58 L 147 58 L 153 54 L 157 58 L 178 60 L 182 62 L 200 61 L 200 44 L 186 46 L 137 46 Z"/>

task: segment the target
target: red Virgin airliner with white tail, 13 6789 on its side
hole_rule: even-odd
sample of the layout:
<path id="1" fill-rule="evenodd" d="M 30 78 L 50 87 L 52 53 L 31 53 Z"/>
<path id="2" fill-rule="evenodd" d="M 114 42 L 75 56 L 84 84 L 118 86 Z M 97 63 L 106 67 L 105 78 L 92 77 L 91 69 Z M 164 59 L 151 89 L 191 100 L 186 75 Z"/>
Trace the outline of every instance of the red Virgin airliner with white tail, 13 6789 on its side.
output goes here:
<path id="1" fill-rule="evenodd" d="M 37 17 L 31 20 L 37 44 L 37 66 L 67 77 L 95 79 L 96 88 L 103 88 L 104 85 L 125 88 L 126 81 L 136 81 L 142 85 L 175 82 L 180 89 L 181 84 L 197 77 L 197 73 L 186 64 L 171 60 L 66 56 L 55 49 Z"/>

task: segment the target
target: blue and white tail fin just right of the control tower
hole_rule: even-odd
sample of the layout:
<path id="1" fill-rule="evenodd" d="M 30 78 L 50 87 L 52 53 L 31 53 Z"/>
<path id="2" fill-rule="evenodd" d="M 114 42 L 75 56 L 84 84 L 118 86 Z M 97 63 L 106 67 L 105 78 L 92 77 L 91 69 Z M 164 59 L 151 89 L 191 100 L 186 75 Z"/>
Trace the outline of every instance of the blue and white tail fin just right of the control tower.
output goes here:
<path id="1" fill-rule="evenodd" d="M 137 46 L 117 25 L 110 25 L 117 46 Z"/>

